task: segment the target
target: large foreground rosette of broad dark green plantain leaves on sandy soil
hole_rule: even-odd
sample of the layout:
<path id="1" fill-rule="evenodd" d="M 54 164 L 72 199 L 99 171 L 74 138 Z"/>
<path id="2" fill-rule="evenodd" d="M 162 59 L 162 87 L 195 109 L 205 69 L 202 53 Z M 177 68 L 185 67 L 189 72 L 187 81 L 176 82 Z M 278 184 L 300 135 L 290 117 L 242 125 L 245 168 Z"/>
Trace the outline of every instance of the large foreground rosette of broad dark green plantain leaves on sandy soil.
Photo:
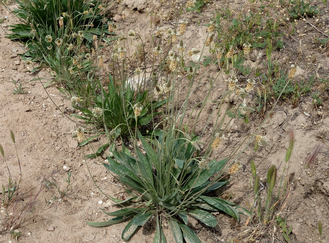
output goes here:
<path id="1" fill-rule="evenodd" d="M 188 215 L 215 227 L 216 219 L 209 211 L 224 211 L 237 220 L 239 213 L 248 213 L 234 203 L 206 196 L 206 193 L 228 184 L 229 181 L 223 179 L 228 160 L 214 159 L 207 163 L 201 157 L 195 157 L 196 148 L 201 143 L 197 136 L 184 136 L 175 129 L 162 131 L 157 139 L 149 140 L 151 144 L 157 144 L 155 150 L 138 130 L 137 134 L 145 155 L 143 150 L 136 148 L 135 158 L 123 148 L 122 152 L 113 152 L 115 160 L 107 157 L 109 163 L 104 163 L 120 182 L 139 193 L 126 189 L 129 198 L 111 199 L 118 205 L 134 204 L 134 207 L 125 206 L 112 213 L 103 210 L 114 218 L 100 223 L 88 222 L 90 226 L 102 227 L 130 220 L 121 235 L 122 239 L 128 240 L 139 226 L 155 218 L 154 242 L 165 242 L 162 220 L 170 224 L 176 242 L 183 242 L 183 238 L 186 242 L 200 242 L 187 226 Z M 215 179 L 209 181 L 213 175 Z"/>

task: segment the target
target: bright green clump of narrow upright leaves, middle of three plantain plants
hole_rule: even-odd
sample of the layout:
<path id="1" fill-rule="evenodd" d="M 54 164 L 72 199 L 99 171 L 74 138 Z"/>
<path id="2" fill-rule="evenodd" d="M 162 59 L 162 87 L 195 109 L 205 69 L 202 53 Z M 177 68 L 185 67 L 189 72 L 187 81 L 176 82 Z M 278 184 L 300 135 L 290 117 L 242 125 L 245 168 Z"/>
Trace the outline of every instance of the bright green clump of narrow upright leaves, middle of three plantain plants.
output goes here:
<path id="1" fill-rule="evenodd" d="M 115 84 L 111 74 L 109 74 L 107 91 L 102 88 L 102 93 L 99 94 L 97 90 L 95 92 L 93 89 L 89 91 L 89 95 L 92 97 L 93 105 L 91 107 L 99 107 L 102 114 L 96 116 L 92 111 L 93 108 L 75 104 L 73 107 L 82 111 L 84 116 L 77 114 L 71 114 L 71 116 L 86 121 L 87 125 L 92 122 L 99 129 L 104 127 L 109 130 L 120 129 L 121 136 L 128 135 L 131 127 L 147 125 L 155 115 L 161 113 L 157 112 L 157 109 L 166 102 L 165 99 L 151 101 L 149 91 L 147 89 L 142 91 L 139 86 L 135 89 L 133 85 L 127 82 L 120 82 L 120 85 Z M 141 106 L 137 122 L 134 112 L 135 104 Z"/>

